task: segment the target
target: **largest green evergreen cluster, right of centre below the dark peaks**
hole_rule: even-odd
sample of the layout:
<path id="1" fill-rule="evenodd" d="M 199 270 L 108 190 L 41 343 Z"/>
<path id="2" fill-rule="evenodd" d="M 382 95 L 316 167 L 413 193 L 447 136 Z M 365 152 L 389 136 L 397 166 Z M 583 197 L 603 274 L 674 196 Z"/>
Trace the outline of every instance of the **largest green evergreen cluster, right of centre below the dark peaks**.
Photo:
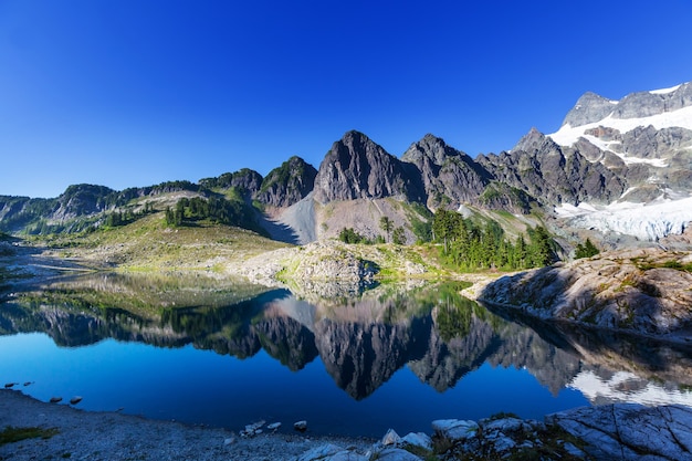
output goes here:
<path id="1" fill-rule="evenodd" d="M 505 238 L 495 221 L 476 223 L 455 211 L 439 209 L 432 233 L 442 243 L 442 258 L 460 269 L 521 270 L 551 264 L 556 260 L 556 244 L 544 227 L 528 229 L 528 241 L 521 234 Z"/>

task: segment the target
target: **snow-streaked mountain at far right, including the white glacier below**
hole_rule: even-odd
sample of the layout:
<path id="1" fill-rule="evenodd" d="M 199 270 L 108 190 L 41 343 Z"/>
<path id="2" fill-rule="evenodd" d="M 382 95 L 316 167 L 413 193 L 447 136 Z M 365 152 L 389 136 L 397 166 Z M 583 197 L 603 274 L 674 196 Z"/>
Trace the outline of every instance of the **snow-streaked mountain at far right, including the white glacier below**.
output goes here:
<path id="1" fill-rule="evenodd" d="M 562 203 L 569 226 L 656 241 L 692 221 L 692 82 L 614 101 L 586 93 L 548 135 L 627 188 L 610 203 Z"/>

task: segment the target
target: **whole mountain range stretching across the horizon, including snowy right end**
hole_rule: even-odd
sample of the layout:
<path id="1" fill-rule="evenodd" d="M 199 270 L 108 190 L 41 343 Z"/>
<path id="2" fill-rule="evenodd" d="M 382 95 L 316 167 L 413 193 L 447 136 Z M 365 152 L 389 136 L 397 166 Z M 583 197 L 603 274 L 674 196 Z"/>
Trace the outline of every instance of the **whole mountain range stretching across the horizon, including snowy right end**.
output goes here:
<path id="1" fill-rule="evenodd" d="M 292 243 L 346 228 L 387 239 L 385 217 L 406 242 L 424 240 L 431 213 L 444 208 L 501 220 L 506 230 L 547 223 L 566 241 L 593 235 L 620 248 L 684 232 L 691 192 L 692 83 L 684 83 L 619 101 L 587 92 L 557 132 L 532 128 L 511 150 L 475 159 L 432 134 L 398 158 L 350 130 L 318 169 L 294 156 L 266 177 L 243 168 L 198 184 L 123 191 L 77 185 L 55 199 L 0 197 L 0 231 L 80 231 L 102 226 L 108 213 L 136 218 L 147 203 L 162 211 L 197 197 L 229 201 L 226 208 L 244 217 L 230 223 L 261 226 Z"/>

